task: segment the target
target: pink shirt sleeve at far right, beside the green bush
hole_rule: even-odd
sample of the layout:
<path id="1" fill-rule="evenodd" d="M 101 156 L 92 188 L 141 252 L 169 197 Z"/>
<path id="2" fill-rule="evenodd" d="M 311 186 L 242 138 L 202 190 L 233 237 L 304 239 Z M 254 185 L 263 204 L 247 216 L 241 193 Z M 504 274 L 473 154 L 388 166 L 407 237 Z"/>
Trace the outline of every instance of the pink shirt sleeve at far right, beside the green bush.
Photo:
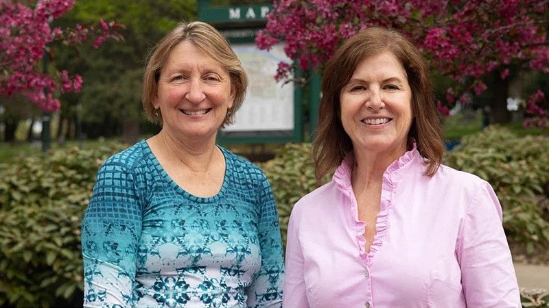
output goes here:
<path id="1" fill-rule="evenodd" d="M 467 307 L 521 307 L 502 209 L 489 183 L 478 188 L 458 239 Z"/>

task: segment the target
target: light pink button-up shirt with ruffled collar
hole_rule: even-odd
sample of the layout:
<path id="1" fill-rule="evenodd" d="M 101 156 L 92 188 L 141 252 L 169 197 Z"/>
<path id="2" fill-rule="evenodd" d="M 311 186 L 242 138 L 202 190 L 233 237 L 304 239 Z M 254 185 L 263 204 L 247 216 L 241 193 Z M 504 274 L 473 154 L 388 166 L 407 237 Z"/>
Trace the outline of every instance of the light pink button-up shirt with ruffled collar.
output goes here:
<path id="1" fill-rule="evenodd" d="M 365 253 L 352 164 L 349 155 L 292 210 L 283 307 L 521 307 L 489 183 L 447 166 L 427 177 L 408 151 L 384 172 Z"/>

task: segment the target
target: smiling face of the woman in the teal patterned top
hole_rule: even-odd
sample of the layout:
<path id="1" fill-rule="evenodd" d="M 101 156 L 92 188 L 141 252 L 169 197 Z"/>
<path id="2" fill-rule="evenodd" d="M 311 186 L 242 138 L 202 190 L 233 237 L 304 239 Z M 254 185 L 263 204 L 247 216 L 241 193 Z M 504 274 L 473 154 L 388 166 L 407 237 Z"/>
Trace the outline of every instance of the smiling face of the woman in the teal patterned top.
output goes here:
<path id="1" fill-rule="evenodd" d="M 215 140 L 234 99 L 229 72 L 184 40 L 167 58 L 152 104 L 161 110 L 166 133 Z"/>

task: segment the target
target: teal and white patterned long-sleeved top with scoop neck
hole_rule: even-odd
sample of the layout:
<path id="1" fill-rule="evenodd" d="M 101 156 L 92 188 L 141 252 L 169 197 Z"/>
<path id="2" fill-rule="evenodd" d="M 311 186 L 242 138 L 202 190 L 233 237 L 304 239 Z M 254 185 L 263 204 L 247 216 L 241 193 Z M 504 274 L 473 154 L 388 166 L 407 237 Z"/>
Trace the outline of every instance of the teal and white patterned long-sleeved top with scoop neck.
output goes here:
<path id="1" fill-rule="evenodd" d="M 180 188 L 145 140 L 107 159 L 82 221 L 84 307 L 281 307 L 269 182 L 220 149 L 225 178 L 209 198 Z"/>

